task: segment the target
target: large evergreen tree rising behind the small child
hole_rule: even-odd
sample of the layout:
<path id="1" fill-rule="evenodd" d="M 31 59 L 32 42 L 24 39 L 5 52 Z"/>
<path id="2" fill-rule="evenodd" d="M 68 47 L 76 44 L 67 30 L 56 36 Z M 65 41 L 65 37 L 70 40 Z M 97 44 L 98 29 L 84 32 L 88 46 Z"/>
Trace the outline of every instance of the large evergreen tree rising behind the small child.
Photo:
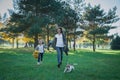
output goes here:
<path id="1" fill-rule="evenodd" d="M 42 28 L 63 11 L 62 3 L 57 0 L 14 0 L 14 9 L 10 22 L 14 23 L 15 31 L 34 38 L 34 47 L 38 44 Z"/>

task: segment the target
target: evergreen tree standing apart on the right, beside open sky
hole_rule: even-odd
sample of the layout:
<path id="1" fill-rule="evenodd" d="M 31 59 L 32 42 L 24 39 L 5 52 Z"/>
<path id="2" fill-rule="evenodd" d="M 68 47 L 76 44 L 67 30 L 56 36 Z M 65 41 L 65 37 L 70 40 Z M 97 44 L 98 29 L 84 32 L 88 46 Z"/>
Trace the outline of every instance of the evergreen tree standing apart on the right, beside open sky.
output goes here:
<path id="1" fill-rule="evenodd" d="M 93 51 L 95 51 L 95 42 L 97 35 L 106 35 L 110 29 L 114 28 L 112 23 L 119 20 L 116 15 L 116 7 L 105 13 L 100 5 L 92 7 L 90 4 L 85 8 L 84 28 L 89 32 L 88 37 L 93 42 Z M 92 35 L 92 36 L 90 36 Z"/>

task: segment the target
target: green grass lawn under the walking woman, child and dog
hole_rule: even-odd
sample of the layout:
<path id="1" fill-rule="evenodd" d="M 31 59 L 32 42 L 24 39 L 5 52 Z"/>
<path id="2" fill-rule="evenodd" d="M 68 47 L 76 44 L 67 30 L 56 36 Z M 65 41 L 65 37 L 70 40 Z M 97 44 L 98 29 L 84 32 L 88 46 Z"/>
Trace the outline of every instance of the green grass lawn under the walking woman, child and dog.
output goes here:
<path id="1" fill-rule="evenodd" d="M 46 52 L 41 65 L 32 56 L 33 49 L 0 49 L 0 80 L 120 80 L 120 51 L 70 51 L 57 68 L 55 52 Z M 75 65 L 63 73 L 68 62 Z"/>

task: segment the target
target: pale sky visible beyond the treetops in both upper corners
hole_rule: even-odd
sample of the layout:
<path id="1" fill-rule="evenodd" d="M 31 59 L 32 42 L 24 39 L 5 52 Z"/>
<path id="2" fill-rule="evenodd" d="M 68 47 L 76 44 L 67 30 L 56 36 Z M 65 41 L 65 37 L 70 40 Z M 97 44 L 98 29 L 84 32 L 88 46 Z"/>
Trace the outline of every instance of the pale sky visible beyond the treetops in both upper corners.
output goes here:
<path id="1" fill-rule="evenodd" d="M 101 5 L 101 8 L 108 12 L 114 6 L 117 7 L 117 15 L 120 17 L 120 0 L 85 0 L 86 3 L 90 3 L 92 6 Z M 13 0 L 0 0 L 0 14 L 8 13 L 8 9 L 13 9 Z M 110 30 L 110 35 L 118 33 L 120 35 L 120 20 L 113 25 L 118 26 L 116 29 Z"/>

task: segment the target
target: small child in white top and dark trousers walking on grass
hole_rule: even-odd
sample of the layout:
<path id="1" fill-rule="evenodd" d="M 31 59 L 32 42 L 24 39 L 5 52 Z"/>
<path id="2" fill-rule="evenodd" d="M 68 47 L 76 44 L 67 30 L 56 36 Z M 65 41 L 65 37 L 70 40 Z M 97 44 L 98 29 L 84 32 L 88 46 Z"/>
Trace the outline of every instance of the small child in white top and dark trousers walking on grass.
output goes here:
<path id="1" fill-rule="evenodd" d="M 44 44 L 42 40 L 38 41 L 38 45 L 35 48 L 36 50 L 38 50 L 38 62 L 37 64 L 40 65 L 40 63 L 43 61 L 43 54 L 44 54 Z"/>

